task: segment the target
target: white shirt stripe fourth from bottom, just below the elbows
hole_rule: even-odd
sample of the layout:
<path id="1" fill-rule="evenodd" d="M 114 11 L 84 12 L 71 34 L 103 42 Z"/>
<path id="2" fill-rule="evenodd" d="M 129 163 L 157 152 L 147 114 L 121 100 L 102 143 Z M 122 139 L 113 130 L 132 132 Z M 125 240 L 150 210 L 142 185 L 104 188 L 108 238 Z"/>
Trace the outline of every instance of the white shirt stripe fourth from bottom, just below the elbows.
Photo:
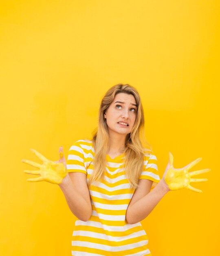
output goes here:
<path id="1" fill-rule="evenodd" d="M 75 226 L 99 227 L 101 229 L 108 230 L 111 232 L 117 232 L 117 231 L 124 232 L 124 231 L 132 229 L 134 227 L 141 226 L 141 222 L 137 222 L 134 224 L 126 224 L 124 226 L 109 226 L 109 225 L 104 225 L 104 224 L 101 224 L 100 222 L 93 221 L 93 220 L 88 220 L 88 221 L 76 220 Z"/>

